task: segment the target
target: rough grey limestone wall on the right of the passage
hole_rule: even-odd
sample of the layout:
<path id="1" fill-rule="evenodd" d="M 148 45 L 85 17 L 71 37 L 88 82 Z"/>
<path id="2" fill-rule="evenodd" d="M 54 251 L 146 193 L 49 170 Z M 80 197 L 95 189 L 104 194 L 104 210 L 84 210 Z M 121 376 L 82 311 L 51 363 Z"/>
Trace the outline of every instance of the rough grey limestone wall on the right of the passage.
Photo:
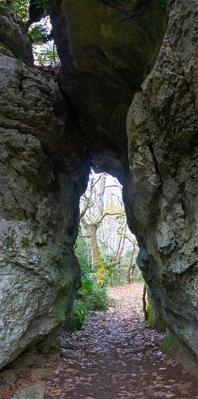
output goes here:
<path id="1" fill-rule="evenodd" d="M 138 265 L 167 323 L 197 353 L 197 3 L 169 2 L 159 56 L 127 117 L 128 215 Z"/>

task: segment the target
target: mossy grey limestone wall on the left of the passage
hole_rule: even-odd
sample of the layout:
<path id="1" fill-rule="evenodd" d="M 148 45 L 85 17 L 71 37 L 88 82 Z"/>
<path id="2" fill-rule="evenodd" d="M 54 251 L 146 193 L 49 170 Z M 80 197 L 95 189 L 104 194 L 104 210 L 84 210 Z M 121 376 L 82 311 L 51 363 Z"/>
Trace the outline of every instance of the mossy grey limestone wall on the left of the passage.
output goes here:
<path id="1" fill-rule="evenodd" d="M 73 245 L 89 168 L 55 80 L 0 47 L 0 367 L 56 331 L 80 278 Z"/>

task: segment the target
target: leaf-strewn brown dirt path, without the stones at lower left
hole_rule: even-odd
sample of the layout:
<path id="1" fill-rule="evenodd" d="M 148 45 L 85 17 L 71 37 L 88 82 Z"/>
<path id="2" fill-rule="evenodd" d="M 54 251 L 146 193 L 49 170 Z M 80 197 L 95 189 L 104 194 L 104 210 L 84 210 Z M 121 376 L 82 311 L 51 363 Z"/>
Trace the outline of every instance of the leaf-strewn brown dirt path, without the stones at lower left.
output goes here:
<path id="1" fill-rule="evenodd" d="M 66 347 L 78 359 L 64 362 L 70 370 L 57 381 L 66 398 L 196 397 L 196 378 L 161 354 L 163 334 L 146 328 L 142 290 L 138 283 L 110 288 L 115 303 L 72 334 Z"/>

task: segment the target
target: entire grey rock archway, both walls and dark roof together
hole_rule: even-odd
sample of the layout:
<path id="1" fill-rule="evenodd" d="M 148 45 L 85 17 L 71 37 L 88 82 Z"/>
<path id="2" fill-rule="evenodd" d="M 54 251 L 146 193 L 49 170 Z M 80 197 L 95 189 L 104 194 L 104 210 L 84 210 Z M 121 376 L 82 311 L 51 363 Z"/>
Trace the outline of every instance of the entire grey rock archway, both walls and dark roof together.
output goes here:
<path id="1" fill-rule="evenodd" d="M 193 357 L 196 1 L 45 6 L 58 71 L 33 65 L 25 27 L 0 6 L 0 367 L 56 334 L 70 314 L 90 166 L 123 184 L 153 314 Z"/>

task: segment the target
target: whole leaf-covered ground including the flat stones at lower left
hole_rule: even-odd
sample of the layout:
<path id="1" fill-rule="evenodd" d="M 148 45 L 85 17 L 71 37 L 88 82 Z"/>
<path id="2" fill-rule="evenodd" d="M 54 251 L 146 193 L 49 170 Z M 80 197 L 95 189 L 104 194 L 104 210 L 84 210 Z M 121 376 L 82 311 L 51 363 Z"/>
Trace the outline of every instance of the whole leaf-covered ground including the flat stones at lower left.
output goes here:
<path id="1" fill-rule="evenodd" d="M 109 288 L 109 310 L 92 312 L 57 354 L 26 353 L 2 371 L 1 397 L 198 398 L 196 377 L 167 358 L 163 334 L 147 328 L 142 290 L 139 283 Z"/>

